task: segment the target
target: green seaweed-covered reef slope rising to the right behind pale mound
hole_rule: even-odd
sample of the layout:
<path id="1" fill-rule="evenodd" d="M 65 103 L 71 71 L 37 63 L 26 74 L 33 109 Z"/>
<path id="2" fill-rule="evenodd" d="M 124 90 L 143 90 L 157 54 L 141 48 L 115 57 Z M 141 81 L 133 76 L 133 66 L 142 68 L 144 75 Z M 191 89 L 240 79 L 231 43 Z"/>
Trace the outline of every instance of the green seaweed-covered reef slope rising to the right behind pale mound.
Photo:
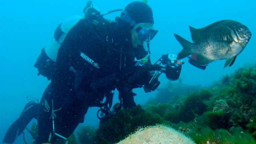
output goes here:
<path id="1" fill-rule="evenodd" d="M 203 88 L 178 83 L 168 82 L 143 106 L 118 111 L 97 130 L 84 127 L 77 136 L 79 142 L 113 144 L 127 137 L 128 143 L 132 143 L 130 134 L 137 129 L 134 134 L 145 131 L 142 127 L 164 124 L 181 131 L 196 144 L 256 143 L 255 64 L 223 75 Z"/>

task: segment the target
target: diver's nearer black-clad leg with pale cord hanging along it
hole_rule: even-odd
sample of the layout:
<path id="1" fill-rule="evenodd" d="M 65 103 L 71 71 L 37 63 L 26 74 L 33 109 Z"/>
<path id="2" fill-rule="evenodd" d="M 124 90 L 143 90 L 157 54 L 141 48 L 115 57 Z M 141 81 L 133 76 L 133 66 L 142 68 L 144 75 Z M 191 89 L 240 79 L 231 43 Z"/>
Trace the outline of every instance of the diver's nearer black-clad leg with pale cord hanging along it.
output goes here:
<path id="1" fill-rule="evenodd" d="M 50 85 L 46 88 L 39 107 L 38 138 L 35 144 L 47 143 L 50 133 L 53 132 L 52 101 L 54 110 L 61 108 L 54 112 L 56 115 L 54 130 L 57 134 L 67 138 L 78 124 L 83 122 L 88 106 L 84 105 L 80 99 L 75 99 L 74 95 L 69 95 L 68 98 L 63 97 L 52 92 Z M 55 143 L 58 138 L 60 137 L 53 135 L 50 142 Z"/>

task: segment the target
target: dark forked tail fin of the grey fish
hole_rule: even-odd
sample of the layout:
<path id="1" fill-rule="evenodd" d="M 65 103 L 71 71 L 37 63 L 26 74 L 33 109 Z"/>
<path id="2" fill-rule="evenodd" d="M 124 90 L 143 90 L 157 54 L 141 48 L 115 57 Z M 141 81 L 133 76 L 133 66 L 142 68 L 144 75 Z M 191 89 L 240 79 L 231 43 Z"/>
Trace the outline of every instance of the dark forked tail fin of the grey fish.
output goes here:
<path id="1" fill-rule="evenodd" d="M 183 47 L 183 50 L 179 52 L 177 59 L 183 59 L 183 58 L 191 55 L 192 54 L 192 52 L 191 52 L 192 43 L 185 40 L 183 37 L 181 37 L 177 34 L 174 34 L 174 36 Z"/>

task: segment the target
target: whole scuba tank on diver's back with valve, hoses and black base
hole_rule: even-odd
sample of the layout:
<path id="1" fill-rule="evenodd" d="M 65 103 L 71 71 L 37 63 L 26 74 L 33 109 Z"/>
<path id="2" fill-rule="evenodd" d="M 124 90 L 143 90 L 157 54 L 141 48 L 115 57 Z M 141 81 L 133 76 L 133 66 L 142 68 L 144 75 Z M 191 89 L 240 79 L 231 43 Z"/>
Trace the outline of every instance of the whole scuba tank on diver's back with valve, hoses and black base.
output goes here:
<path id="1" fill-rule="evenodd" d="M 52 72 L 54 69 L 54 64 L 57 59 L 58 50 L 66 38 L 66 35 L 70 31 L 72 27 L 74 27 L 80 19 L 86 19 L 89 26 L 90 26 L 90 20 L 88 19 L 88 11 L 90 10 L 90 13 L 93 15 L 93 18 L 95 16 L 102 16 L 120 11 L 122 9 L 117 9 L 113 11 L 106 12 L 104 14 L 100 14 L 100 10 L 92 4 L 92 1 L 88 1 L 86 4 L 86 7 L 84 8 L 83 16 L 71 16 L 67 18 L 63 23 L 61 23 L 56 30 L 54 31 L 54 36 L 50 40 L 50 42 L 41 50 L 41 54 L 38 56 L 36 63 L 34 64 L 34 67 L 38 69 L 37 75 L 43 75 L 47 77 L 48 80 L 51 79 Z M 93 11 L 92 11 L 93 10 Z M 92 32 L 94 32 L 93 28 L 90 26 Z M 95 33 L 95 35 L 100 39 L 100 37 Z M 104 42 L 104 41 L 103 41 Z"/>

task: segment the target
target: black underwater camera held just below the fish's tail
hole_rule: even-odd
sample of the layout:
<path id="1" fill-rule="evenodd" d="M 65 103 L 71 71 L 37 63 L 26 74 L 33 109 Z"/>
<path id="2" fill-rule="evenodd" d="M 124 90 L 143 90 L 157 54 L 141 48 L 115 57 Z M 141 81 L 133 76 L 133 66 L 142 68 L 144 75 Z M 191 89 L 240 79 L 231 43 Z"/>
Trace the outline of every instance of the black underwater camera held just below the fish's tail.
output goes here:
<path id="1" fill-rule="evenodd" d="M 177 60 L 177 54 L 166 54 L 162 55 L 155 64 L 161 67 L 160 72 L 165 73 L 167 79 L 177 80 L 180 77 L 181 66 L 184 64 L 184 61 Z"/>

